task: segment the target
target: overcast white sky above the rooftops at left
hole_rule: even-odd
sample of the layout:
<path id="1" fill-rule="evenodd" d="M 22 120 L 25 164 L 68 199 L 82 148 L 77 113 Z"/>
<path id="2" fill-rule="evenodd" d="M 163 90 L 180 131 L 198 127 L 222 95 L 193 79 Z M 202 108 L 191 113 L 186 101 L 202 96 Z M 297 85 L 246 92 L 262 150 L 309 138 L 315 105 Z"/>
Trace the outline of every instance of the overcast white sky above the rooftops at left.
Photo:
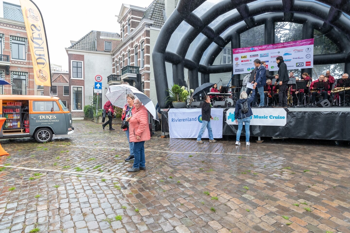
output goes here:
<path id="1" fill-rule="evenodd" d="M 4 0 L 20 5 L 19 0 Z M 148 7 L 153 0 L 32 0 L 43 16 L 50 63 L 68 70 L 65 48 L 91 30 L 120 33 L 117 22 L 123 3 Z"/>

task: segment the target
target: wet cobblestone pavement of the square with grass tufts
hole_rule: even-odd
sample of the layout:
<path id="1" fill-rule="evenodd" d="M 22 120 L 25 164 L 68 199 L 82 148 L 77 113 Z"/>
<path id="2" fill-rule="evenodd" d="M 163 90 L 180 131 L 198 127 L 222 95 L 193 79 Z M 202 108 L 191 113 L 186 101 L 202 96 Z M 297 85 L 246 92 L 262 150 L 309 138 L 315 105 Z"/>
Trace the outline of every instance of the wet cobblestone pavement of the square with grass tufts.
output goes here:
<path id="1" fill-rule="evenodd" d="M 73 126 L 46 144 L 1 140 L 0 233 L 350 232 L 348 148 L 156 132 L 130 173 L 118 125 Z"/>

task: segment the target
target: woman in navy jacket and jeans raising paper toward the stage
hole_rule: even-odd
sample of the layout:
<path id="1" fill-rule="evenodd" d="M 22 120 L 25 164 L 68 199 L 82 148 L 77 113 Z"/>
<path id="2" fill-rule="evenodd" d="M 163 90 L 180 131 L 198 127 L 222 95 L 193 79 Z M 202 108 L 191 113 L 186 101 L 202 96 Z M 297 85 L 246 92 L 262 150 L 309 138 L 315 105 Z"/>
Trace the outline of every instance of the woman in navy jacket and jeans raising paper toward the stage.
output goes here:
<path id="1" fill-rule="evenodd" d="M 255 87 L 256 85 L 253 86 L 252 94 L 249 99 L 246 92 L 241 92 L 239 96 L 239 100 L 237 100 L 236 102 L 235 120 L 236 120 L 236 123 L 238 124 L 238 130 L 236 135 L 236 145 L 240 145 L 239 137 L 242 132 L 243 122 L 245 125 L 245 144 L 247 146 L 250 145 L 249 125 L 250 125 L 250 116 L 253 115 L 252 109 L 250 107 L 250 103 L 254 100 Z"/>

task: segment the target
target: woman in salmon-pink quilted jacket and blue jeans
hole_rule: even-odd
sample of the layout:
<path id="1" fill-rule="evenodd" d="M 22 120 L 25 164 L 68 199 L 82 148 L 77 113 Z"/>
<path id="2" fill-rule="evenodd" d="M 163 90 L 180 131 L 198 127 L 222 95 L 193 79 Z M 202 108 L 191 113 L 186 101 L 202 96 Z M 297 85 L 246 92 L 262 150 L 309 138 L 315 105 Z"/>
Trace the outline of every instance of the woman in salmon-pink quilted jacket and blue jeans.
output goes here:
<path id="1" fill-rule="evenodd" d="M 151 139 L 148 127 L 148 113 L 139 99 L 134 100 L 135 113 L 128 119 L 129 140 L 134 142 L 134 165 L 128 169 L 130 172 L 146 170 L 145 141 Z"/>

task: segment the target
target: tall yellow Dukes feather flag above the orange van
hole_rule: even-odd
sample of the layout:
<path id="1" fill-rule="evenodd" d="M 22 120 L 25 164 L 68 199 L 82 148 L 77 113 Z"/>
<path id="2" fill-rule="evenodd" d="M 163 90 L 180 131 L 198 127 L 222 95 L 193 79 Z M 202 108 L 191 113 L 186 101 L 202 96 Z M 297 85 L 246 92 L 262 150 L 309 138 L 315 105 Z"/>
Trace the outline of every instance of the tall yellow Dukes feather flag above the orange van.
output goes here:
<path id="1" fill-rule="evenodd" d="M 33 60 L 35 85 L 51 86 L 49 50 L 41 12 L 31 0 L 20 0 L 20 3 Z"/>

